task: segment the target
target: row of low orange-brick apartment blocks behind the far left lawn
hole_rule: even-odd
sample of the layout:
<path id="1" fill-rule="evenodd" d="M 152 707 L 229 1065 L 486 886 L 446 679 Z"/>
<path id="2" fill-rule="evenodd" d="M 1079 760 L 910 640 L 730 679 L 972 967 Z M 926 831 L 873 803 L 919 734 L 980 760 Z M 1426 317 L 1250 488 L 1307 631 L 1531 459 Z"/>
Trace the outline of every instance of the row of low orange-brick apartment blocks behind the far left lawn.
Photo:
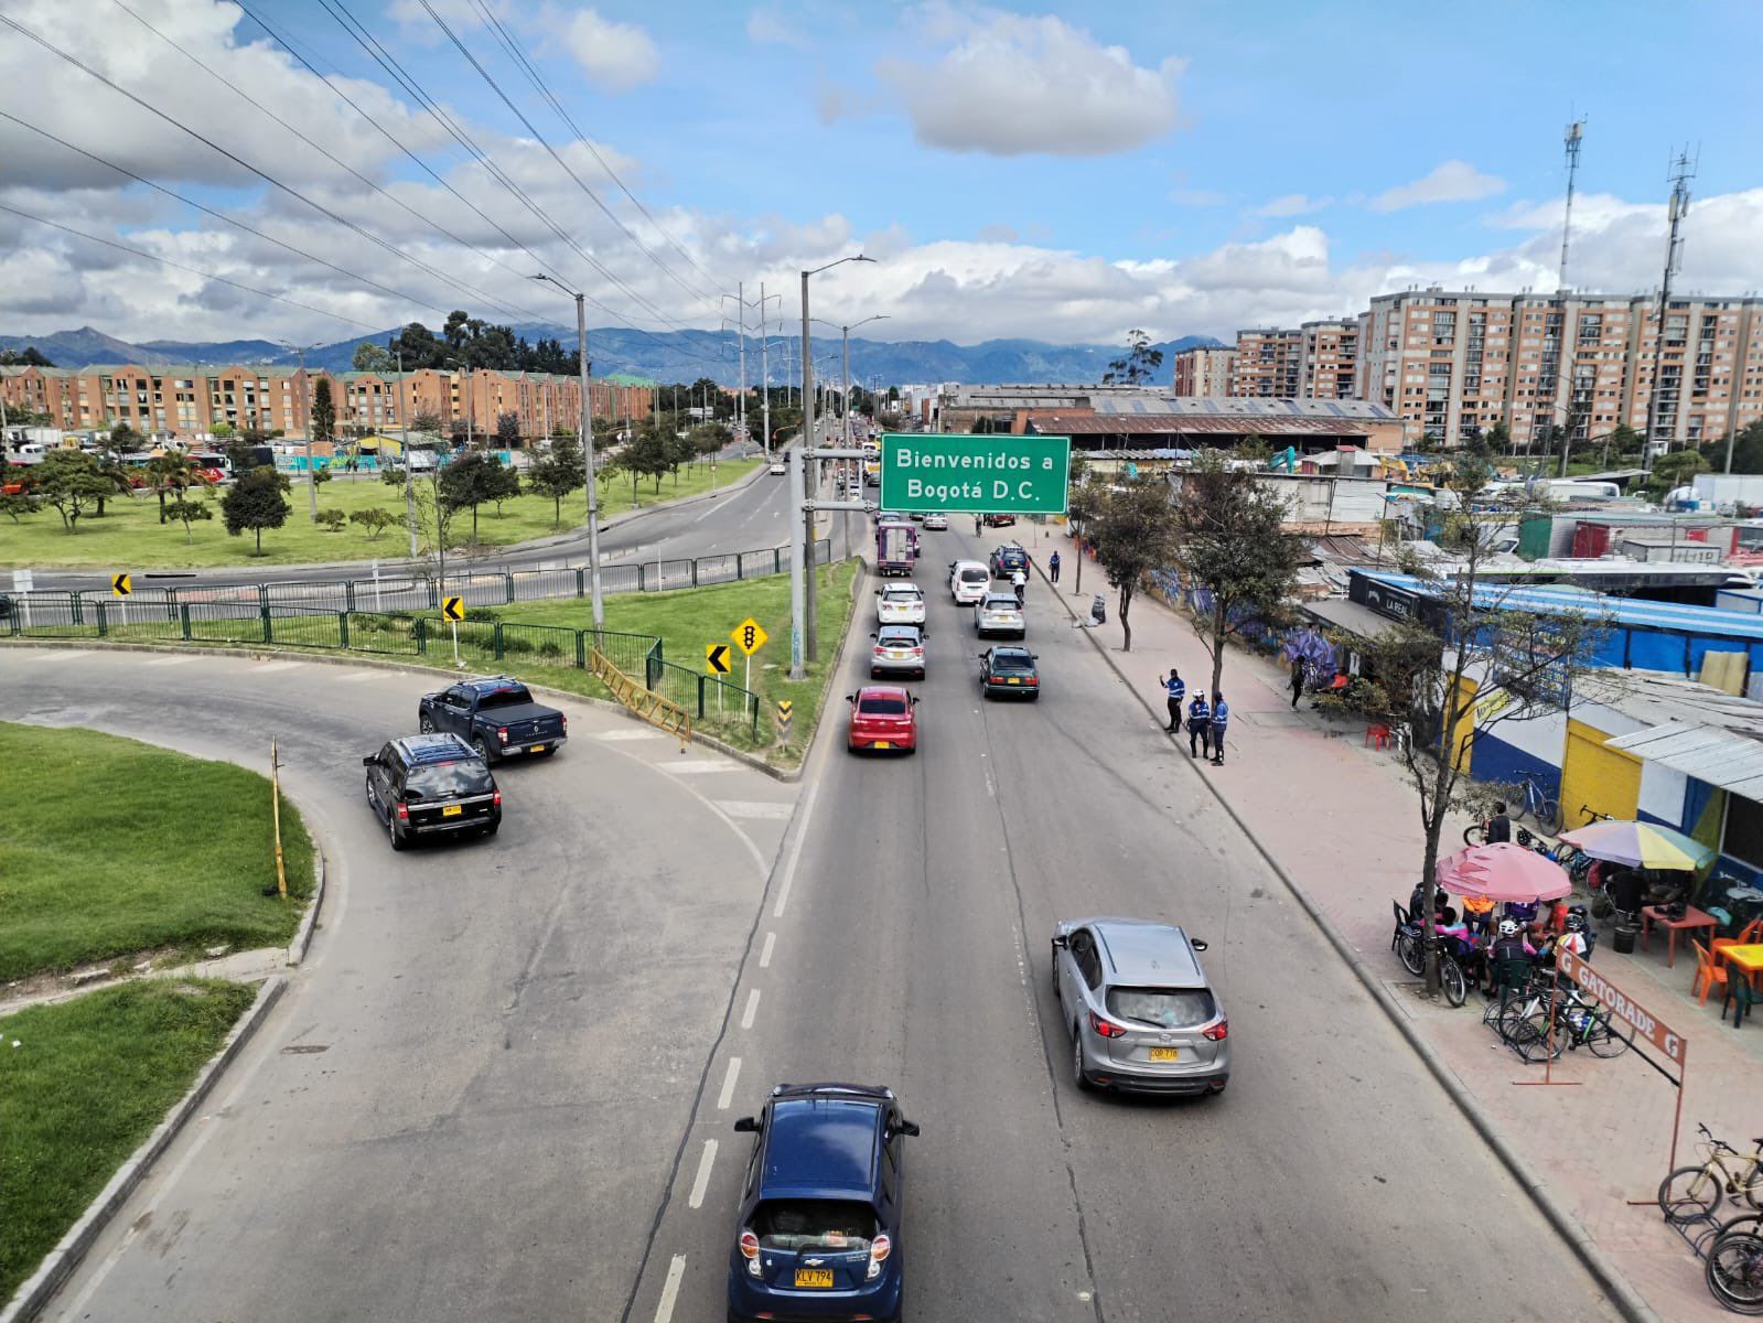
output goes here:
<path id="1" fill-rule="evenodd" d="M 582 386 L 573 376 L 547 372 L 324 372 L 286 367 L 92 365 L 0 367 L 0 399 L 9 409 L 49 415 L 63 430 L 129 423 L 159 436 L 212 436 L 219 423 L 234 430 L 305 437 L 312 392 L 330 381 L 337 429 L 377 432 L 421 415 L 448 430 L 469 427 L 494 436 L 497 418 L 518 418 L 524 439 L 552 427 L 577 427 Z M 654 407 L 652 386 L 592 379 L 598 418 L 642 416 Z"/>

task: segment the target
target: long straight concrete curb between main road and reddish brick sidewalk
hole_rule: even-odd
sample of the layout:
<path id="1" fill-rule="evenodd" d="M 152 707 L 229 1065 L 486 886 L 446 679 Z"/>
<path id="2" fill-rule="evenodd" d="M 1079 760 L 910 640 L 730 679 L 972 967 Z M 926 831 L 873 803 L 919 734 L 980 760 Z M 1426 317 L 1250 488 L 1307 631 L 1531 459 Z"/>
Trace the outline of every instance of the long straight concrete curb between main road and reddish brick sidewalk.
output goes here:
<path id="1" fill-rule="evenodd" d="M 1082 552 L 1079 550 L 1079 556 L 1081 554 Z M 1060 594 L 1058 584 L 1047 579 L 1047 573 L 1045 570 L 1040 568 L 1040 563 L 1035 561 L 1033 557 L 1031 563 L 1035 564 L 1035 572 L 1042 577 L 1042 580 L 1045 580 L 1047 586 L 1053 587 L 1054 591 L 1053 594 L 1060 598 L 1060 603 L 1065 607 L 1067 614 L 1072 619 L 1081 619 L 1077 610 L 1070 603 L 1067 603 L 1065 598 Z M 1151 704 L 1149 699 L 1144 697 L 1144 693 L 1141 693 L 1141 686 L 1134 684 L 1132 679 L 1127 677 L 1127 672 L 1121 670 L 1120 663 L 1116 663 L 1114 656 L 1107 651 L 1107 646 L 1095 637 L 1093 630 L 1084 630 L 1082 633 L 1090 639 L 1091 647 L 1095 647 L 1102 654 L 1102 660 L 1107 662 L 1109 669 L 1114 672 L 1120 683 L 1125 684 L 1127 690 L 1132 693 L 1132 697 L 1139 700 L 1139 706 L 1144 707 L 1153 725 L 1162 727 L 1162 720 L 1158 718 L 1157 707 Z M 1310 900 L 1305 889 L 1298 886 L 1298 880 L 1291 873 L 1287 873 L 1285 868 L 1280 866 L 1280 861 L 1273 857 L 1273 852 L 1262 843 L 1261 836 L 1255 834 L 1255 829 L 1250 827 L 1248 822 L 1243 818 L 1243 815 L 1236 811 L 1236 806 L 1229 799 L 1225 799 L 1224 792 L 1218 789 L 1218 783 L 1208 780 L 1201 773 L 1201 769 L 1194 766 L 1192 759 L 1178 759 L 1178 760 L 1190 767 L 1194 776 L 1199 778 L 1201 785 L 1204 785 L 1211 792 L 1213 799 L 1216 799 L 1218 804 L 1224 808 L 1224 811 L 1231 815 L 1231 820 L 1236 822 L 1236 826 L 1248 838 L 1248 843 L 1255 847 L 1255 852 L 1262 857 L 1268 868 L 1273 870 L 1275 877 L 1278 877 L 1280 882 L 1285 886 L 1285 889 L 1292 894 L 1292 900 L 1296 900 L 1298 905 L 1303 908 L 1303 912 L 1308 914 L 1310 919 L 1315 923 L 1315 926 L 1322 930 L 1322 935 L 1329 940 L 1329 946 L 1335 947 L 1335 953 L 1347 963 L 1347 968 L 1354 972 L 1354 975 L 1359 979 L 1365 990 L 1372 995 L 1372 1000 L 1377 1002 L 1377 1005 L 1384 1011 L 1384 1014 L 1396 1027 L 1402 1037 L 1407 1039 L 1409 1046 L 1432 1073 L 1433 1080 L 1439 1081 L 1446 1095 L 1456 1104 L 1458 1111 L 1463 1113 L 1465 1120 L 1469 1120 L 1476 1134 L 1479 1134 L 1483 1141 L 1488 1145 L 1488 1148 L 1493 1150 L 1493 1155 L 1500 1159 L 1500 1162 L 1506 1166 L 1511 1177 L 1518 1182 L 1518 1185 L 1525 1191 L 1530 1201 L 1537 1207 L 1537 1212 L 1541 1212 L 1543 1217 L 1548 1221 L 1548 1224 L 1555 1228 L 1555 1233 L 1567 1242 L 1567 1249 L 1571 1249 L 1578 1256 L 1578 1259 L 1585 1265 L 1587 1272 L 1592 1274 L 1592 1279 L 1608 1293 L 1610 1300 L 1617 1305 L 1617 1309 L 1622 1311 L 1622 1316 L 1627 1318 L 1629 1323 L 1661 1323 L 1659 1314 L 1655 1314 L 1652 1305 L 1648 1305 L 1641 1298 L 1641 1295 L 1633 1286 L 1629 1286 L 1627 1279 L 1622 1277 L 1615 1263 L 1611 1263 L 1611 1259 L 1604 1254 L 1604 1251 L 1597 1247 L 1597 1242 L 1592 1240 L 1592 1235 L 1580 1224 L 1580 1219 L 1573 1215 L 1567 1205 L 1562 1203 L 1541 1178 L 1532 1175 L 1530 1168 L 1518 1155 L 1518 1152 L 1507 1143 L 1506 1136 L 1500 1134 L 1499 1127 L 1493 1124 L 1493 1118 L 1488 1117 L 1481 1102 L 1476 1101 L 1476 1097 L 1469 1092 L 1469 1088 L 1456 1076 L 1456 1073 L 1451 1071 L 1449 1065 L 1446 1065 L 1444 1058 L 1433 1050 L 1433 1046 L 1421 1037 L 1419 1028 L 1416 1028 L 1414 1021 L 1402 1011 L 1402 1007 L 1396 1004 L 1396 998 L 1389 995 L 1389 990 L 1384 988 L 1382 979 L 1379 979 L 1377 974 L 1372 972 L 1370 965 L 1366 965 L 1359 958 L 1358 949 L 1354 949 L 1354 946 L 1347 942 L 1345 933 L 1342 933 L 1335 926 L 1333 919 L 1329 919 L 1322 912 L 1322 908 Z M 0 1319 L 0 1323 L 5 1321 Z"/>

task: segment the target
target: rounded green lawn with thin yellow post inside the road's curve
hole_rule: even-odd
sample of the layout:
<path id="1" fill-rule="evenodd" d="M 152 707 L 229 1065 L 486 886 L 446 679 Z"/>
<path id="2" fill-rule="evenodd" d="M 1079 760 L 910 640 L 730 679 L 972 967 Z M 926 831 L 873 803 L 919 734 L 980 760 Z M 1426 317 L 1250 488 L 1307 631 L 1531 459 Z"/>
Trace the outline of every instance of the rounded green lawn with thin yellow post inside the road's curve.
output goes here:
<path id="1" fill-rule="evenodd" d="M 268 764 L 270 748 L 263 750 Z M 270 780 L 95 730 L 0 723 L 0 981 L 155 947 L 282 946 L 312 894 L 312 838 Z"/>

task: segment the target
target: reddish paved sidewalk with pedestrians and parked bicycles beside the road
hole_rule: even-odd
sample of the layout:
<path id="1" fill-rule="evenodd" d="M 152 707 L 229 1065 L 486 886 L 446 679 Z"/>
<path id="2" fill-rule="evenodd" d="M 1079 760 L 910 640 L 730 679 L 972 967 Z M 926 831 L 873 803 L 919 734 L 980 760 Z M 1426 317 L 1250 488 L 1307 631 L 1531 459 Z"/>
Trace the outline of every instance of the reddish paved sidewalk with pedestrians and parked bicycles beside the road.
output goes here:
<path id="1" fill-rule="evenodd" d="M 1084 564 L 1084 591 L 1074 594 L 1077 552 L 1068 538 L 1037 540 L 1037 568 L 1053 549 L 1063 561 L 1060 600 L 1088 617 L 1091 593 L 1107 593 L 1098 566 Z M 1190 693 L 1209 690 L 1211 658 L 1186 616 L 1142 593 L 1132 602 L 1132 653 L 1121 653 L 1116 594 L 1107 596 L 1109 623 L 1090 637 L 1146 706 L 1146 720 L 1160 725 L 1162 677 L 1169 667 L 1181 670 Z M 1222 688 L 1232 716 L 1225 766 L 1194 762 L 1195 776 L 1213 783 L 1266 852 L 1347 937 L 1523 1166 L 1580 1221 L 1659 1318 L 1673 1323 L 1730 1318 L 1708 1293 L 1701 1261 L 1663 1222 L 1657 1207 L 1625 1203 L 1652 1200 L 1668 1171 L 1677 1090 L 1633 1051 L 1615 1060 L 1564 1053 L 1553 1080 L 1578 1087 L 1514 1087 L 1520 1080 L 1541 1081 L 1543 1067 L 1520 1062 L 1483 1027 L 1481 997 L 1472 993 L 1456 1011 L 1442 1000 L 1428 1002 L 1389 951 L 1391 900 L 1407 903 L 1425 847 L 1419 801 L 1405 769 L 1393 755 L 1363 748 L 1363 720 L 1324 716 L 1308 699 L 1292 711 L 1289 670 L 1276 662 L 1231 646 Z M 1185 732 L 1179 741 L 1171 739 L 1171 757 L 1188 759 Z M 1446 827 L 1440 852 L 1460 845 L 1465 826 L 1467 818 Z M 1735 1032 L 1731 1021 L 1719 1018 L 1717 995 L 1696 1005 L 1689 995 L 1696 960 L 1685 946 L 1680 944 L 1675 968 L 1666 968 L 1663 933 L 1654 937 L 1650 953 L 1618 956 L 1610 949 L 1606 928 L 1596 954 L 1599 974 L 1689 1044 L 1678 1166 L 1698 1161 L 1698 1122 L 1740 1150 L 1763 1129 L 1758 1108 L 1763 1021 Z M 1738 1212 L 1722 1205 L 1719 1215 Z"/>

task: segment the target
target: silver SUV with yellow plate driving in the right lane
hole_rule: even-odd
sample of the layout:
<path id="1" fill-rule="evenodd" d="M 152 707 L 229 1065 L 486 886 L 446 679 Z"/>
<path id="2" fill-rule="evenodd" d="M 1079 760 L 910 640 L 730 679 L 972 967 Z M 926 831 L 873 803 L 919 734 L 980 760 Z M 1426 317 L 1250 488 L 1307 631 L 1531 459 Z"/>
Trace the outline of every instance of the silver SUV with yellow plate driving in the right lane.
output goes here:
<path id="1" fill-rule="evenodd" d="M 1067 919 L 1053 990 L 1072 1034 L 1072 1081 L 1148 1094 L 1218 1094 L 1229 1021 L 1206 983 L 1206 944 L 1144 919 Z"/>

